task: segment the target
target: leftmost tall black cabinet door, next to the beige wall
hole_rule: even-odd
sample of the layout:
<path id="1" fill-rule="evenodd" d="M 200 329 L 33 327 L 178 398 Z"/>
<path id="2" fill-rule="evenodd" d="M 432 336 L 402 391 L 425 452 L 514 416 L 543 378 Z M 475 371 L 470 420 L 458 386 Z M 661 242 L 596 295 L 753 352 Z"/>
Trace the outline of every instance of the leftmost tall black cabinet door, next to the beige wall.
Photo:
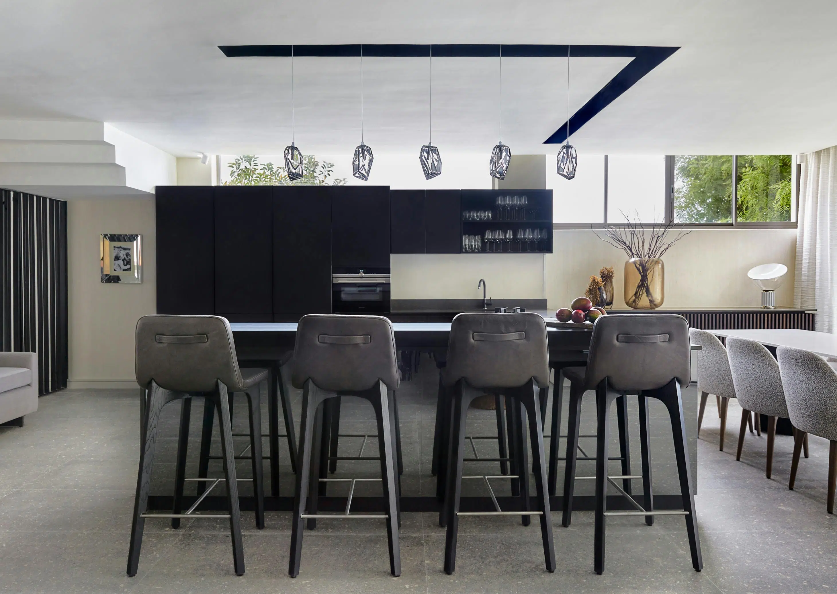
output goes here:
<path id="1" fill-rule="evenodd" d="M 157 313 L 215 313 L 213 187 L 157 186 Z"/>

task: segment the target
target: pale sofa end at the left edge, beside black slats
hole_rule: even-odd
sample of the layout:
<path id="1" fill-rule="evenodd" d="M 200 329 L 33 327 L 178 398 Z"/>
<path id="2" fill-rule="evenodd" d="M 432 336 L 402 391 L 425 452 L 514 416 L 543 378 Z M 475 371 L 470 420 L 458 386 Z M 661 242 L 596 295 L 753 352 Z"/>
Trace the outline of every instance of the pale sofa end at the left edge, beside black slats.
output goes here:
<path id="1" fill-rule="evenodd" d="M 23 427 L 38 410 L 38 355 L 0 352 L 0 424 Z"/>

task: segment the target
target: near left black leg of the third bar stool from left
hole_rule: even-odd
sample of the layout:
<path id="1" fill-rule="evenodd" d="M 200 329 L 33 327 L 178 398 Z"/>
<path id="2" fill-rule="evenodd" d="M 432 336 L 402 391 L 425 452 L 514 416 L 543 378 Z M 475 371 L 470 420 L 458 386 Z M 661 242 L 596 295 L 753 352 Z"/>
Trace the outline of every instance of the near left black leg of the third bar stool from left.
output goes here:
<path id="1" fill-rule="evenodd" d="M 467 393 L 466 393 L 467 391 Z M 444 500 L 444 511 L 447 512 L 447 532 L 444 539 L 444 572 L 448 575 L 456 568 L 456 540 L 460 527 L 460 497 L 462 496 L 462 460 L 465 458 L 465 422 L 468 419 L 468 407 L 472 395 L 465 387 L 465 381 L 460 381 L 453 396 L 454 411 L 451 416 L 452 447 L 450 450 L 448 493 Z M 511 404 L 506 402 L 506 410 Z"/>

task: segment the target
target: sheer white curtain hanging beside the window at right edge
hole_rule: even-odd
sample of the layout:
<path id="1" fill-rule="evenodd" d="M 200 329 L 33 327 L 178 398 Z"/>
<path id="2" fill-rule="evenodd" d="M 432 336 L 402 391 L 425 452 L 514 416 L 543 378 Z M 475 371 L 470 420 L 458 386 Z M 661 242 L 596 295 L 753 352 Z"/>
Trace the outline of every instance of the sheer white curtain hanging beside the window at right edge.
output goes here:
<path id="1" fill-rule="evenodd" d="M 802 155 L 796 235 L 797 307 L 816 308 L 817 330 L 837 329 L 837 146 Z"/>

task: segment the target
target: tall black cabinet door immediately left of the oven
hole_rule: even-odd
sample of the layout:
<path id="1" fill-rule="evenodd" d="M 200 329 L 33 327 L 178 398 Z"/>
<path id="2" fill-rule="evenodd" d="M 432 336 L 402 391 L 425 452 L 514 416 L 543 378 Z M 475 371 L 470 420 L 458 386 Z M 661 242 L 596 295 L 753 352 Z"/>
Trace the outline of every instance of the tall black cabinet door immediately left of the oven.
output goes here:
<path id="1" fill-rule="evenodd" d="M 273 313 L 331 314 L 331 188 L 273 188 Z"/>

